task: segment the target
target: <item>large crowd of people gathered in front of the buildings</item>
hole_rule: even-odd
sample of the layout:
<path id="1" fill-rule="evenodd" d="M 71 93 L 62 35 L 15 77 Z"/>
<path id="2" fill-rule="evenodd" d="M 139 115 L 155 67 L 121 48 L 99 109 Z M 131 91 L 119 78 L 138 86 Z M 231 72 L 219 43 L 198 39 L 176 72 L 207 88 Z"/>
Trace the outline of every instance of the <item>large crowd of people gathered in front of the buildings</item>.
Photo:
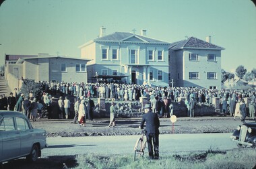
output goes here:
<path id="1" fill-rule="evenodd" d="M 169 117 L 173 114 L 173 102 L 178 102 L 179 98 L 185 98 L 187 106 L 187 116 L 195 117 L 194 109 L 196 105 L 212 105 L 212 98 L 220 98 L 222 113 L 230 114 L 236 119 L 237 116 L 243 116 L 240 105 L 243 105 L 243 98 L 251 98 L 249 106 L 250 116 L 255 119 L 255 91 L 238 90 L 218 90 L 202 89 L 190 87 L 150 87 L 148 85 L 137 84 L 114 84 L 114 83 L 84 83 L 84 82 L 40 82 L 42 93 L 36 99 L 24 96 L 14 89 L 9 97 L 0 95 L 0 109 L 9 109 L 24 111 L 30 119 L 36 120 L 32 113 L 32 103 L 38 106 L 38 118 L 42 117 L 42 109 L 45 108 L 51 118 L 51 104 L 53 98 L 59 99 L 57 105 L 59 108 L 59 118 L 69 118 L 70 112 L 75 112 L 75 101 L 90 98 L 105 98 L 108 101 L 139 101 L 140 97 L 146 97 L 148 103 L 152 105 L 152 111 L 158 113 L 159 117 Z M 73 101 L 69 97 L 75 98 Z M 91 100 L 91 99 L 90 99 Z M 28 103 L 30 102 L 30 105 Z M 82 102 L 82 101 L 80 101 Z M 24 105 L 26 103 L 26 105 Z M 88 101 L 85 101 L 88 104 Z M 23 105 L 22 105 L 23 104 Z M 72 107 L 73 110 L 70 110 Z M 242 106 L 243 107 L 243 106 Z M 254 109 L 253 109 L 254 108 Z M 90 112 L 92 113 L 92 112 Z M 92 113 L 93 114 L 93 113 Z"/>

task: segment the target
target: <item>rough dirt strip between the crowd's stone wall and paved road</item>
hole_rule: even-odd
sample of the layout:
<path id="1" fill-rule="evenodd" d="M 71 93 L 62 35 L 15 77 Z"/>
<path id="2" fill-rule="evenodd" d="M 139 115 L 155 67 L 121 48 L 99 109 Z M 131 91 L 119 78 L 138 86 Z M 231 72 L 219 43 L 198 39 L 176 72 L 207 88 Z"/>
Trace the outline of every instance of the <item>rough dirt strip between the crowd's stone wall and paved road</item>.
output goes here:
<path id="1" fill-rule="evenodd" d="M 86 121 L 86 127 L 71 123 L 71 119 L 39 119 L 33 127 L 46 129 L 48 137 L 74 137 L 99 135 L 137 135 L 141 119 L 117 119 L 117 127 L 108 127 L 108 119 Z M 230 133 L 240 125 L 233 117 L 181 117 L 174 123 L 174 133 Z M 172 133 L 170 119 L 160 119 L 160 133 Z"/>

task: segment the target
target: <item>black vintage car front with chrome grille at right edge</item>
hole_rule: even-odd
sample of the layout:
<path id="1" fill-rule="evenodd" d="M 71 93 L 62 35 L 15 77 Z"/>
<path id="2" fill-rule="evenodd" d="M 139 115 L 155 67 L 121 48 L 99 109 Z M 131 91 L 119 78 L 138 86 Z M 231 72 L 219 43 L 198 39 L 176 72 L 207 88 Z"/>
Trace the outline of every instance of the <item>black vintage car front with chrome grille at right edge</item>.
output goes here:
<path id="1" fill-rule="evenodd" d="M 238 148 L 256 148 L 256 122 L 238 125 L 231 139 L 236 142 Z"/>

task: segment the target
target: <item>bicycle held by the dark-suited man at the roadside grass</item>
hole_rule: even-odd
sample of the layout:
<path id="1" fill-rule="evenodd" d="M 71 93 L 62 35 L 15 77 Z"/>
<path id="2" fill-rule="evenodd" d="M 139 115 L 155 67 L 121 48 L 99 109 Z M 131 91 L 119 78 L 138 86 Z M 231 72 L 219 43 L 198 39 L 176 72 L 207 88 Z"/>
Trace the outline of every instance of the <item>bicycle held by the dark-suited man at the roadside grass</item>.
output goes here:
<path id="1" fill-rule="evenodd" d="M 141 131 L 142 135 L 137 139 L 137 142 L 134 146 L 134 161 L 141 156 L 144 156 L 145 149 L 147 147 L 147 139 L 146 139 L 146 131 L 145 129 L 142 129 Z"/>

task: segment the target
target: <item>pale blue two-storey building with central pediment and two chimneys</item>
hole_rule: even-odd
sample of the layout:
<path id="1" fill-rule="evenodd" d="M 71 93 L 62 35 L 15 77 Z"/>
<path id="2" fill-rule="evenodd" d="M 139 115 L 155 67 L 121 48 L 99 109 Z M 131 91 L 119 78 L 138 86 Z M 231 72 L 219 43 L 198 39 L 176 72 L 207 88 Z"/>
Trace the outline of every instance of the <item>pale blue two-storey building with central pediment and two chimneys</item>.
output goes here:
<path id="1" fill-rule="evenodd" d="M 130 84 L 169 86 L 169 46 L 168 42 L 148 38 L 146 30 L 141 30 L 140 35 L 128 32 L 101 34 L 79 48 L 81 58 L 91 60 L 87 64 L 88 82 L 94 82 L 97 76 L 119 76 Z"/>

